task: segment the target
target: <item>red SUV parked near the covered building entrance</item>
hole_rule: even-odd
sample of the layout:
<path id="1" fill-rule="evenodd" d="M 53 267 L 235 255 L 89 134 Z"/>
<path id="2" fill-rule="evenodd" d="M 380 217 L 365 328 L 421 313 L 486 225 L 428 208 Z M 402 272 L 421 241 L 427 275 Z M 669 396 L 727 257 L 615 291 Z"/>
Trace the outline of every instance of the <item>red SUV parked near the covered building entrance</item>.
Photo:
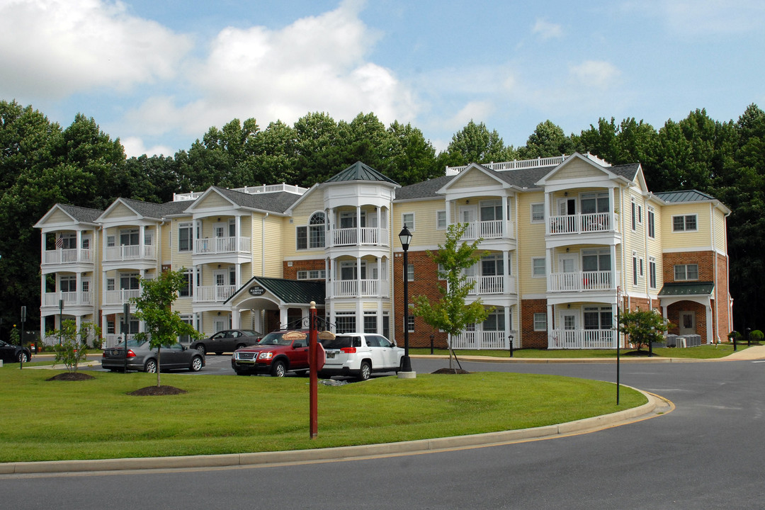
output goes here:
<path id="1" fill-rule="evenodd" d="M 284 377 L 287 372 L 308 371 L 308 331 L 274 331 L 263 336 L 255 346 L 236 349 L 231 356 L 236 375 L 271 374 Z"/>

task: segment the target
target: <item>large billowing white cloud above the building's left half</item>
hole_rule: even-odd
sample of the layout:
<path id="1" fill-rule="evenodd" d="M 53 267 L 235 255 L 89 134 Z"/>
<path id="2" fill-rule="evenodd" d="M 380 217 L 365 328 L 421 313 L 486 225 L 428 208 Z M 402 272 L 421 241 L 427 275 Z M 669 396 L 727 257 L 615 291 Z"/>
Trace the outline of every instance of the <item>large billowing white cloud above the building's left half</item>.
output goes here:
<path id="1" fill-rule="evenodd" d="M 225 28 L 207 55 L 184 70 L 196 99 L 149 98 L 129 118 L 136 128 L 197 134 L 235 117 L 267 125 L 295 122 L 314 111 L 336 120 L 374 112 L 384 123 L 411 121 L 417 106 L 408 87 L 365 58 L 379 34 L 360 21 L 359 7 L 343 2 L 280 30 Z"/>

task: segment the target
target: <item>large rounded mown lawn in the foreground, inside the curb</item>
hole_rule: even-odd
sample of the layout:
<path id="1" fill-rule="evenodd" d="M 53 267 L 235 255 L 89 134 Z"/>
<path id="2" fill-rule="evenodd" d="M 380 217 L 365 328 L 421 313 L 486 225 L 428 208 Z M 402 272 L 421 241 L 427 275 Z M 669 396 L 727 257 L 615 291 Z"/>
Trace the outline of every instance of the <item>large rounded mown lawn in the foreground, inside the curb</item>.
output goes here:
<path id="1" fill-rule="evenodd" d="M 308 438 L 308 379 L 163 374 L 184 395 L 134 397 L 142 373 L 0 370 L 0 462 L 245 453 L 386 443 L 562 423 L 645 403 L 614 385 L 549 375 L 476 372 L 319 385 Z M 12 388 L 12 389 L 8 389 Z"/>

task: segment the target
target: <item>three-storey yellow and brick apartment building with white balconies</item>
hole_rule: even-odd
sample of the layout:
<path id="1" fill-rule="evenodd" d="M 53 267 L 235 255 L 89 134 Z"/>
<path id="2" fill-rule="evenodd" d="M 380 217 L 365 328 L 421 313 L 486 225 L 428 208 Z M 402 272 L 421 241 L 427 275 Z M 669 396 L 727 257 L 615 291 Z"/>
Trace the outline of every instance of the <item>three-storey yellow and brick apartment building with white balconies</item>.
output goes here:
<path id="1" fill-rule="evenodd" d="M 262 332 L 307 317 L 313 301 L 335 330 L 403 336 L 401 282 L 438 297 L 438 249 L 449 225 L 481 239 L 466 271 L 470 300 L 492 311 L 451 339 L 461 349 L 613 348 L 620 307 L 656 309 L 672 333 L 705 343 L 731 330 L 726 217 L 698 191 L 650 193 L 640 164 L 590 154 L 449 167 L 401 187 L 356 163 L 311 189 L 286 184 L 105 211 L 54 205 L 41 229 L 41 329 L 62 317 L 103 327 L 116 343 L 140 278 L 184 269 L 175 307 L 197 330 Z M 403 268 L 398 232 L 412 232 Z M 418 317 L 410 345 L 445 346 Z M 130 333 L 142 330 L 132 320 Z"/>

